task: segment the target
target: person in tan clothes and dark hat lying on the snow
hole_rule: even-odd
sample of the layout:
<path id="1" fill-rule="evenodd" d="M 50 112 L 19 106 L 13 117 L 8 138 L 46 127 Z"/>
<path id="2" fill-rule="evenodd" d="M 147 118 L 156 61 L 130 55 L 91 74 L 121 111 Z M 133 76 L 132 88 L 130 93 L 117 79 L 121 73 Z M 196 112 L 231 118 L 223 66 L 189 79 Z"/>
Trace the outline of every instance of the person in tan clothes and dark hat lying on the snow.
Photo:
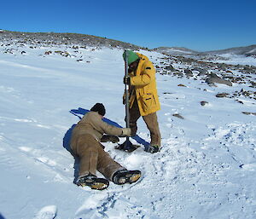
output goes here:
<path id="1" fill-rule="evenodd" d="M 102 121 L 106 110 L 102 103 L 96 103 L 74 127 L 71 148 L 80 159 L 77 185 L 102 190 L 108 187 L 108 180 L 115 184 L 137 182 L 140 170 L 126 170 L 104 151 L 100 143 L 104 134 L 130 136 L 130 128 L 118 128 Z M 96 170 L 107 179 L 96 176 Z"/>

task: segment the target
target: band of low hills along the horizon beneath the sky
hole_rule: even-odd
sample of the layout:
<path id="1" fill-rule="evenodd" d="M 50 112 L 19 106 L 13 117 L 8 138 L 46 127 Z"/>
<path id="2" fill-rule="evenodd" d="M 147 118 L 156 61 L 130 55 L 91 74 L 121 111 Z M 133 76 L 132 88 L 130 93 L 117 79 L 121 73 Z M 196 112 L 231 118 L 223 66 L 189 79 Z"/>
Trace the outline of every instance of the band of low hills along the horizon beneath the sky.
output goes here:
<path id="1" fill-rule="evenodd" d="M 56 32 L 10 32 L 0 29 L 0 41 L 9 43 L 29 43 L 29 44 L 79 44 L 81 46 L 109 47 L 121 49 L 146 49 L 160 52 L 166 55 L 256 55 L 256 45 L 246 47 L 236 47 L 230 49 L 213 50 L 207 52 L 198 52 L 183 47 L 159 47 L 148 49 L 131 43 L 125 43 L 107 37 L 96 37 L 93 35 L 79 33 L 56 33 Z"/>

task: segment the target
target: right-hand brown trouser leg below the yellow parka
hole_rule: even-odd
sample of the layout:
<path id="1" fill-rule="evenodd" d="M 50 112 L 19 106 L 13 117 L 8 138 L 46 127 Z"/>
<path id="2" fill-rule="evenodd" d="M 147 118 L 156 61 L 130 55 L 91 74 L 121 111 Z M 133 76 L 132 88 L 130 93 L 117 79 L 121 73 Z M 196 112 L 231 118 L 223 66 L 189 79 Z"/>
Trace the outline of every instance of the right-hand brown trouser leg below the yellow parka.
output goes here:
<path id="1" fill-rule="evenodd" d="M 143 116 L 143 120 L 147 124 L 148 130 L 150 131 L 150 145 L 160 147 L 161 135 L 156 112 L 150 113 L 147 116 Z"/>

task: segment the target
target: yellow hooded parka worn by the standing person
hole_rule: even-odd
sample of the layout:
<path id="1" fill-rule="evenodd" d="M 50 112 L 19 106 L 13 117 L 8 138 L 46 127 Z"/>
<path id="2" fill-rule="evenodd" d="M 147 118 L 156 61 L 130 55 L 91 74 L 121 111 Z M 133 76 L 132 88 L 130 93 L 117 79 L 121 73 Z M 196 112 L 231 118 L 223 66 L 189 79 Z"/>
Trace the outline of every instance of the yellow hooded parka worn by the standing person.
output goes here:
<path id="1" fill-rule="evenodd" d="M 160 110 L 160 101 L 157 95 L 154 66 L 147 56 L 139 53 L 137 55 L 140 57 L 137 71 L 129 73 L 131 86 L 135 89 L 135 94 L 130 96 L 130 107 L 136 97 L 141 116 L 146 116 Z"/>

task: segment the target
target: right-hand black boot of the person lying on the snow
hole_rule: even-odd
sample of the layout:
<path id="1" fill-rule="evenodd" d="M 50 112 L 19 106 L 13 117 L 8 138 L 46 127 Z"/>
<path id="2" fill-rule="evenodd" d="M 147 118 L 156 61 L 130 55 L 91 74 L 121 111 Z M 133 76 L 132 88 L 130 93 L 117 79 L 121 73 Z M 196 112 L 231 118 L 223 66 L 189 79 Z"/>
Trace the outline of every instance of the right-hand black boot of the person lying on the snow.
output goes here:
<path id="1" fill-rule="evenodd" d="M 127 182 L 133 183 L 142 176 L 140 170 L 119 170 L 113 174 L 112 181 L 115 184 L 122 185 Z"/>

